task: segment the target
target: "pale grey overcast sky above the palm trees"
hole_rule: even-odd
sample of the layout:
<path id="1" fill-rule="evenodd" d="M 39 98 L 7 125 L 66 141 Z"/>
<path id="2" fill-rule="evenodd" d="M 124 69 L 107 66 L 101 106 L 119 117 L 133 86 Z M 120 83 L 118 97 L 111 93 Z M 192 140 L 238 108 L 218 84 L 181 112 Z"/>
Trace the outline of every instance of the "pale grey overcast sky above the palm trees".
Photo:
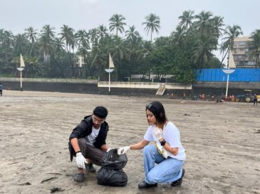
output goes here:
<path id="1" fill-rule="evenodd" d="M 0 5 L 0 29 L 15 35 L 30 26 L 40 31 L 46 24 L 56 32 L 63 24 L 76 31 L 100 24 L 108 27 L 113 14 L 122 14 L 128 26 L 135 25 L 141 36 L 149 39 L 142 26 L 145 16 L 151 12 L 160 16 L 160 33 L 154 37 L 169 36 L 185 10 L 223 16 L 226 25 L 239 25 L 244 36 L 260 29 L 260 0 L 0 0 Z"/>

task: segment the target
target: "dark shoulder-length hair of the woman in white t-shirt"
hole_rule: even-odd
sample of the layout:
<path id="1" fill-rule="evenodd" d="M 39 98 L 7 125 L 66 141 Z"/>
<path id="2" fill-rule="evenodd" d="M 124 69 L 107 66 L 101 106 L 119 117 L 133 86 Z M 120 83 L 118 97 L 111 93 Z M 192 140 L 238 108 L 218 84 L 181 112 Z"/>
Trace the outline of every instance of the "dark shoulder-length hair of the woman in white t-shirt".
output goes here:
<path id="1" fill-rule="evenodd" d="M 160 103 L 160 101 L 152 101 L 151 103 L 147 104 L 145 110 L 150 110 L 153 112 L 153 115 L 156 119 L 156 125 L 163 129 L 164 124 L 168 120 L 166 118 L 164 106 L 162 106 L 162 103 Z"/>

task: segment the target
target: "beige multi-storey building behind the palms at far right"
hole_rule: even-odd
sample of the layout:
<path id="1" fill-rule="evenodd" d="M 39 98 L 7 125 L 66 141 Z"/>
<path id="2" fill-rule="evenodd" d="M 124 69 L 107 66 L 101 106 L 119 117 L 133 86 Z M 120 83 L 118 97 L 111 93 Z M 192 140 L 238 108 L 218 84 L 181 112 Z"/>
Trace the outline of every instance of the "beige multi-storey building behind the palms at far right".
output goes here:
<path id="1" fill-rule="evenodd" d="M 232 55 L 235 60 L 237 68 L 250 68 L 256 67 L 257 62 L 252 58 L 248 52 L 248 43 L 252 41 L 248 36 L 241 38 L 235 38 L 234 47 L 232 49 Z"/>

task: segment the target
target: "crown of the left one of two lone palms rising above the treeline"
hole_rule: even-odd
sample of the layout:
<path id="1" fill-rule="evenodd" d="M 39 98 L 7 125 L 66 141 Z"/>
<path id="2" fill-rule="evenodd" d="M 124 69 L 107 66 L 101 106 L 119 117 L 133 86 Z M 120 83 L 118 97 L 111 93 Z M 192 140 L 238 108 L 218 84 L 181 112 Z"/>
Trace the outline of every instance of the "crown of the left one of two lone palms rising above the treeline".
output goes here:
<path id="1" fill-rule="evenodd" d="M 109 30 L 110 32 L 116 29 L 116 36 L 118 36 L 118 31 L 122 34 L 124 32 L 124 25 L 127 25 L 127 23 L 124 23 L 124 16 L 121 14 L 114 14 L 111 16 L 111 19 L 109 19 Z"/>

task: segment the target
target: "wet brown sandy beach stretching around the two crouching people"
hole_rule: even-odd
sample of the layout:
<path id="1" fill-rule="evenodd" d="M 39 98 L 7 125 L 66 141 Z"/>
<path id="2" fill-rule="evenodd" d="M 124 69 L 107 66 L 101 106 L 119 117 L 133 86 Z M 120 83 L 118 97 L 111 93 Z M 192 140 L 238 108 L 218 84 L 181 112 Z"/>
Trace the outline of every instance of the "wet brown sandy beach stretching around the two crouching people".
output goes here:
<path id="1" fill-rule="evenodd" d="M 85 173 L 76 183 L 76 162 L 67 142 L 72 129 L 98 105 L 109 110 L 107 145 L 141 141 L 145 105 L 159 100 L 180 129 L 186 149 L 182 186 L 140 190 L 142 150 L 127 152 L 124 187 L 101 186 Z M 4 90 L 0 97 L 0 193 L 260 193 L 260 105 L 182 101 L 74 93 Z M 99 167 L 95 166 L 97 169 Z"/>

